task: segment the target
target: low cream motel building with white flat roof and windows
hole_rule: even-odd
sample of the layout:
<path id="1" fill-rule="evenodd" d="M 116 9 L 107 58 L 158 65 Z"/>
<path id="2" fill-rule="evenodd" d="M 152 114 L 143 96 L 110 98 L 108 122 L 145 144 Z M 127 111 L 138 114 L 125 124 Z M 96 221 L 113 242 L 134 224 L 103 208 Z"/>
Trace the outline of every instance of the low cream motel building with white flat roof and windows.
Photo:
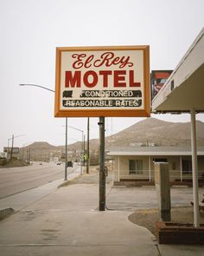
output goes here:
<path id="1" fill-rule="evenodd" d="M 115 147 L 108 155 L 113 160 L 115 185 L 154 185 L 154 163 L 169 163 L 172 185 L 192 186 L 192 156 L 190 147 Z M 204 185 L 204 147 L 198 148 L 199 185 Z"/>

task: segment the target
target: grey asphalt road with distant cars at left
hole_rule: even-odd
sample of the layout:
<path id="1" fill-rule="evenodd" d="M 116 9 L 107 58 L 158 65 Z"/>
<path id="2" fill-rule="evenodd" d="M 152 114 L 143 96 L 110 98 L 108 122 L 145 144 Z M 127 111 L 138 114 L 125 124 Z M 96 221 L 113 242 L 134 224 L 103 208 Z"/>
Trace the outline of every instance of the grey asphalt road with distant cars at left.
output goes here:
<path id="1" fill-rule="evenodd" d="M 0 199 L 64 177 L 64 165 L 34 162 L 29 167 L 0 168 Z"/>

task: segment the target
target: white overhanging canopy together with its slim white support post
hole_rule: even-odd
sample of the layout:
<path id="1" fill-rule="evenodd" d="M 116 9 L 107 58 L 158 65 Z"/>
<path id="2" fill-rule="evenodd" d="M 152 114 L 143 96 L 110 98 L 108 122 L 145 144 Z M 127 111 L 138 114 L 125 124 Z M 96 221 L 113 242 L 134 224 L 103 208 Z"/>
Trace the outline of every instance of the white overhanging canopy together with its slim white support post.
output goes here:
<path id="1" fill-rule="evenodd" d="M 204 29 L 152 102 L 156 112 L 191 113 L 194 226 L 200 226 L 195 112 L 204 112 Z"/>

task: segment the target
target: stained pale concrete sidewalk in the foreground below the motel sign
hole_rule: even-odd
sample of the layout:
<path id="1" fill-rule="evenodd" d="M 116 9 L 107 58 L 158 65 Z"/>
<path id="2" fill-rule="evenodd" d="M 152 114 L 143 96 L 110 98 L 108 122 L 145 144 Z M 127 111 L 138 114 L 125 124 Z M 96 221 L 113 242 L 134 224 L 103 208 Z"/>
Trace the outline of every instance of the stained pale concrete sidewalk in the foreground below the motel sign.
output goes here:
<path id="1" fill-rule="evenodd" d="M 0 254 L 158 255 L 153 235 L 130 212 L 99 212 L 98 185 L 61 187 L 0 222 Z"/>

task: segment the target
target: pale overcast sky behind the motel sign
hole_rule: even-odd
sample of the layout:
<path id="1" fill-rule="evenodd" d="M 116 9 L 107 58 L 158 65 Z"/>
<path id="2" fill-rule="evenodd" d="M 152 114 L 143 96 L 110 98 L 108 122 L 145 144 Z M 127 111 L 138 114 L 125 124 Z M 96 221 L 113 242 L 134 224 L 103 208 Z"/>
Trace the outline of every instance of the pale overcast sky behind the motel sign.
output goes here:
<path id="1" fill-rule="evenodd" d="M 15 146 L 33 141 L 64 145 L 65 119 L 54 118 L 55 48 L 150 44 L 150 69 L 175 69 L 204 25 L 203 0 L 0 0 L 0 152 L 8 139 Z M 189 121 L 189 115 L 156 115 Z M 204 115 L 197 115 L 204 121 Z M 141 118 L 108 118 L 106 135 Z M 91 119 L 91 138 L 99 137 Z M 68 125 L 86 134 L 86 118 Z M 69 128 L 68 143 L 81 140 Z"/>

